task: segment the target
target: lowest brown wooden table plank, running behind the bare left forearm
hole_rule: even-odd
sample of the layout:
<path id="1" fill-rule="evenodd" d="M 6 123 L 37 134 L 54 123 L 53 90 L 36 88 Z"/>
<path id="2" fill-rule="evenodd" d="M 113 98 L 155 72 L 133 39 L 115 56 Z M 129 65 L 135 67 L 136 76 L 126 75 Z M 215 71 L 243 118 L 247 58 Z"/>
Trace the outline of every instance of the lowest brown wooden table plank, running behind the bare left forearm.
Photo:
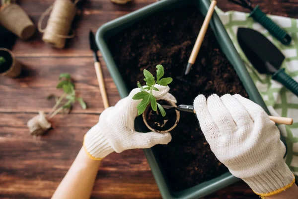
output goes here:
<path id="1" fill-rule="evenodd" d="M 34 114 L 0 113 L 0 198 L 50 198 L 82 145 L 96 114 L 58 115 L 55 129 L 34 139 L 26 122 Z M 104 159 L 94 195 L 99 198 L 159 198 L 141 149 Z"/>

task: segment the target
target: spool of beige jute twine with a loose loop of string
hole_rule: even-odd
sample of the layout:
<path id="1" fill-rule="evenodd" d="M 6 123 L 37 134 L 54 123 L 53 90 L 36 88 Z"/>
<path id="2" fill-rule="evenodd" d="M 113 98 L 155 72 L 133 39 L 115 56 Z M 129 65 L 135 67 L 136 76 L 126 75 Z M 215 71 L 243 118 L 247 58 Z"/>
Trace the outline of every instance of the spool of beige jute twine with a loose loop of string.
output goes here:
<path id="1" fill-rule="evenodd" d="M 72 21 L 76 14 L 75 4 L 70 0 L 56 0 L 40 17 L 38 21 L 38 30 L 43 32 L 42 40 L 56 48 L 63 48 L 65 46 L 66 39 L 73 38 L 72 35 L 68 35 Z M 52 12 L 51 12 L 52 10 Z M 42 21 L 47 14 L 50 14 L 47 27 L 42 29 Z"/>

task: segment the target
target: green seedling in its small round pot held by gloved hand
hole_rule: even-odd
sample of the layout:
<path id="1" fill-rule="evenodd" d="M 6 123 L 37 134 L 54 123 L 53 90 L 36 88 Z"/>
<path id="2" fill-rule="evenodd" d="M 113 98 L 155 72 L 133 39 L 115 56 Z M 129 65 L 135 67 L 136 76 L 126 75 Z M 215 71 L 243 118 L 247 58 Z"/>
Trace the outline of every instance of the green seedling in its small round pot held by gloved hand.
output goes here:
<path id="1" fill-rule="evenodd" d="M 152 131 L 165 133 L 177 126 L 180 113 L 175 109 L 164 110 L 162 105 L 177 105 L 170 100 L 156 99 L 153 96 L 153 91 L 159 91 L 154 87 L 155 85 L 168 86 L 173 81 L 172 78 L 162 78 L 164 69 L 161 65 L 157 65 L 156 68 L 156 80 L 148 70 L 144 70 L 144 80 L 147 86 L 142 87 L 140 82 L 138 82 L 141 92 L 134 95 L 133 100 L 142 100 L 137 106 L 138 115 L 142 114 L 146 126 Z"/>

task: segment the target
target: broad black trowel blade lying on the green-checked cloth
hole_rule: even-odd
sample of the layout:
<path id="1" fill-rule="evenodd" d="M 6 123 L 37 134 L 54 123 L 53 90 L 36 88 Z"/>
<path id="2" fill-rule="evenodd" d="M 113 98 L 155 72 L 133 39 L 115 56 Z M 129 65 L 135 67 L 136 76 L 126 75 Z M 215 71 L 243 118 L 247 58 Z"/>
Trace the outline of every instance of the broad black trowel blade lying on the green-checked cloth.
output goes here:
<path id="1" fill-rule="evenodd" d="M 275 73 L 285 59 L 282 52 L 258 31 L 239 28 L 237 39 L 247 59 L 261 74 Z"/>

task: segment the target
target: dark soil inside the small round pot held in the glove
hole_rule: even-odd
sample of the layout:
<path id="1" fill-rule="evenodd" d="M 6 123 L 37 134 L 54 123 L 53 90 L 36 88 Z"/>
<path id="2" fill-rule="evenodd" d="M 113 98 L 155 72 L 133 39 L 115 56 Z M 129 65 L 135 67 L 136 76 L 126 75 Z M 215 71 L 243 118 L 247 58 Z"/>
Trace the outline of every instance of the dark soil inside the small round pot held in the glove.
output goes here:
<path id="1" fill-rule="evenodd" d="M 165 100 L 157 100 L 160 105 L 169 105 Z M 165 116 L 163 117 L 157 107 L 157 111 L 152 110 L 151 106 L 147 113 L 147 123 L 155 130 L 168 130 L 174 126 L 176 122 L 175 109 L 164 109 Z"/>

